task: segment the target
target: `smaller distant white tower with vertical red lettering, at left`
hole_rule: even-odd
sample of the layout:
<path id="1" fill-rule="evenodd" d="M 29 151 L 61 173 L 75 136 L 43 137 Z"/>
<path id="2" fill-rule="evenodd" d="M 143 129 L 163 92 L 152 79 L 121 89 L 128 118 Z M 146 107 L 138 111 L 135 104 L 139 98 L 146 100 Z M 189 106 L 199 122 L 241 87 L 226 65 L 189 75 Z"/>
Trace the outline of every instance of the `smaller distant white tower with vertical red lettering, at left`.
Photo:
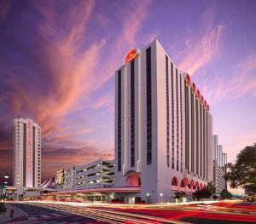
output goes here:
<path id="1" fill-rule="evenodd" d="M 41 128 L 29 118 L 14 121 L 14 186 L 41 185 Z"/>

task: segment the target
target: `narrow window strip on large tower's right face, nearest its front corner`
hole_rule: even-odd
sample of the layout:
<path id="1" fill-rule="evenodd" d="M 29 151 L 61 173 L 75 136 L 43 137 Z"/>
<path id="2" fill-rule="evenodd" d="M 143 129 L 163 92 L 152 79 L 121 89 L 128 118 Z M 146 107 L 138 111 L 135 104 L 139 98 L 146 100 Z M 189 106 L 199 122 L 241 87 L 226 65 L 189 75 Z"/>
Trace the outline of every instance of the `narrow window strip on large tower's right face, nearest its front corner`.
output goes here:
<path id="1" fill-rule="evenodd" d="M 166 55 L 166 164 L 170 167 L 170 106 L 168 56 Z"/>

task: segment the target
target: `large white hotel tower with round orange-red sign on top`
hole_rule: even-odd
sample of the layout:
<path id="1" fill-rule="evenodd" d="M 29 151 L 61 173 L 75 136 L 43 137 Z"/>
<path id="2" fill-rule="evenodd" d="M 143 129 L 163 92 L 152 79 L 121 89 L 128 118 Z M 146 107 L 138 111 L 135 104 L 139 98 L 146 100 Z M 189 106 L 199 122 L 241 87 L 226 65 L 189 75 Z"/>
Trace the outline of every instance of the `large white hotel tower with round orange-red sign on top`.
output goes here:
<path id="1" fill-rule="evenodd" d="M 158 40 L 132 49 L 115 72 L 115 186 L 126 202 L 171 202 L 212 181 L 212 117 L 189 75 Z"/>

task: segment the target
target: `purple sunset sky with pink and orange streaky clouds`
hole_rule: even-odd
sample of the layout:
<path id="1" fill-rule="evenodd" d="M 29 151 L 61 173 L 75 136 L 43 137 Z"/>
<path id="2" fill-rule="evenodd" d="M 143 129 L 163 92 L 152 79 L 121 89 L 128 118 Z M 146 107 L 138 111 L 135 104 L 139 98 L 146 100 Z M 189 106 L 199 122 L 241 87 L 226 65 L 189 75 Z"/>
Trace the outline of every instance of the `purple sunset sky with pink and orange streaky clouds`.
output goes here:
<path id="1" fill-rule="evenodd" d="M 157 37 L 210 105 L 233 162 L 256 141 L 256 1 L 0 1 L 0 175 L 14 118 L 42 128 L 42 177 L 113 158 L 113 72 Z M 1 180 L 1 178 L 0 178 Z"/>

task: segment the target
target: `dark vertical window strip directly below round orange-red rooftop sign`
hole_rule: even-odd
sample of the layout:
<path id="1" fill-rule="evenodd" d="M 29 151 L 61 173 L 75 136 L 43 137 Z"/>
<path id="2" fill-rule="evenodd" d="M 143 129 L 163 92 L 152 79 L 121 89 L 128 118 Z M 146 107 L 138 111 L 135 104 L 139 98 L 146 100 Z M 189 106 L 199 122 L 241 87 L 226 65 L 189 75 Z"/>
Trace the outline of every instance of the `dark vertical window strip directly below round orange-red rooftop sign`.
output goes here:
<path id="1" fill-rule="evenodd" d="M 135 89 L 134 60 L 131 60 L 131 167 L 135 164 Z"/>

